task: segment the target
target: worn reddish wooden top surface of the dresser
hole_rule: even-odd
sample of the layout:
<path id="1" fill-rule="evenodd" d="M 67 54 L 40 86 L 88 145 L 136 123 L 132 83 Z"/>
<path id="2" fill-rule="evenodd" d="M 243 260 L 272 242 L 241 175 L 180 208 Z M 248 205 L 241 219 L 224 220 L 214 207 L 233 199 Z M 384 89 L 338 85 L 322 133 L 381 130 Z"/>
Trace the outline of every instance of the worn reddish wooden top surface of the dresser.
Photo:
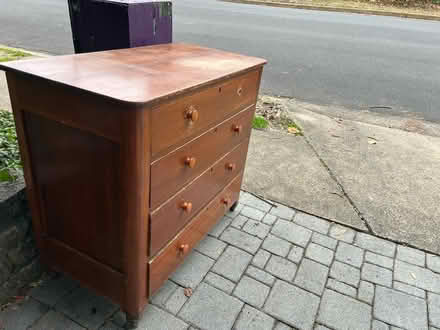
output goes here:
<path id="1" fill-rule="evenodd" d="M 0 63 L 123 102 L 148 104 L 262 66 L 265 60 L 189 44 L 164 44 Z"/>

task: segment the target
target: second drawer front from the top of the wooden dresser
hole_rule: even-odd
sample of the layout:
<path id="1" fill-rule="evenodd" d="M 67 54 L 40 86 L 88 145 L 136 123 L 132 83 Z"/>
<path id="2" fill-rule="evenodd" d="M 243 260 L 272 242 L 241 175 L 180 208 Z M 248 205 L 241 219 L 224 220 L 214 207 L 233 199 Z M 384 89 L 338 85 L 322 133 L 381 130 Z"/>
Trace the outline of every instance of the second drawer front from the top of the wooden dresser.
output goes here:
<path id="1" fill-rule="evenodd" d="M 151 164 L 151 209 L 199 176 L 222 155 L 249 137 L 255 107 L 242 111 Z M 236 131 L 236 129 L 239 131 Z"/>

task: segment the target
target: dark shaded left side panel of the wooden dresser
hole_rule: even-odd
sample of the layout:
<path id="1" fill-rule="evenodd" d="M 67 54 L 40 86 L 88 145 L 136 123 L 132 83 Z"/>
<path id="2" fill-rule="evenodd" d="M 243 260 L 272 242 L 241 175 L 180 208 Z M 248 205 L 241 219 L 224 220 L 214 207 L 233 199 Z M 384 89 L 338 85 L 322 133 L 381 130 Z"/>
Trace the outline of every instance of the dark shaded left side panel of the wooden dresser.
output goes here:
<path id="1" fill-rule="evenodd" d="M 98 98 L 88 103 L 87 95 L 68 89 L 61 92 L 68 98 L 64 108 L 52 100 L 58 91 L 52 84 L 40 81 L 46 95 L 35 95 L 32 77 L 7 77 L 42 261 L 123 302 L 119 133 L 100 133 L 120 131 L 119 109 Z"/>

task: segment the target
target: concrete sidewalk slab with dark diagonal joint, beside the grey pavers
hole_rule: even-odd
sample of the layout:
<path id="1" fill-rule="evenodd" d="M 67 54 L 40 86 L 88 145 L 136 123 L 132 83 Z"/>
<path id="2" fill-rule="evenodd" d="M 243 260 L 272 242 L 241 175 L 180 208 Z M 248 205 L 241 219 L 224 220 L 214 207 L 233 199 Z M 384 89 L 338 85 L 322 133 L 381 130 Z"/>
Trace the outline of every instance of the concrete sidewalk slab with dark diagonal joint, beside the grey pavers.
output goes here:
<path id="1" fill-rule="evenodd" d="M 278 102 L 304 137 L 254 131 L 245 190 L 440 253 L 440 126 Z"/>

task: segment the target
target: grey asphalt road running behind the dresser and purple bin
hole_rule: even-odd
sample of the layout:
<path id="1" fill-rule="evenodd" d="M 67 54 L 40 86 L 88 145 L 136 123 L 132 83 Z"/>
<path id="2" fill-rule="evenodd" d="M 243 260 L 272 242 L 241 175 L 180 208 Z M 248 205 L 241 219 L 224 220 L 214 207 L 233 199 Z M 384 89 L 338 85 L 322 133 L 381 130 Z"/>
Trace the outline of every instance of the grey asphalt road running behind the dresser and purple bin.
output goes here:
<path id="1" fill-rule="evenodd" d="M 175 41 L 264 57 L 262 90 L 440 122 L 440 22 L 174 1 Z M 73 52 L 67 0 L 2 1 L 0 44 Z"/>

